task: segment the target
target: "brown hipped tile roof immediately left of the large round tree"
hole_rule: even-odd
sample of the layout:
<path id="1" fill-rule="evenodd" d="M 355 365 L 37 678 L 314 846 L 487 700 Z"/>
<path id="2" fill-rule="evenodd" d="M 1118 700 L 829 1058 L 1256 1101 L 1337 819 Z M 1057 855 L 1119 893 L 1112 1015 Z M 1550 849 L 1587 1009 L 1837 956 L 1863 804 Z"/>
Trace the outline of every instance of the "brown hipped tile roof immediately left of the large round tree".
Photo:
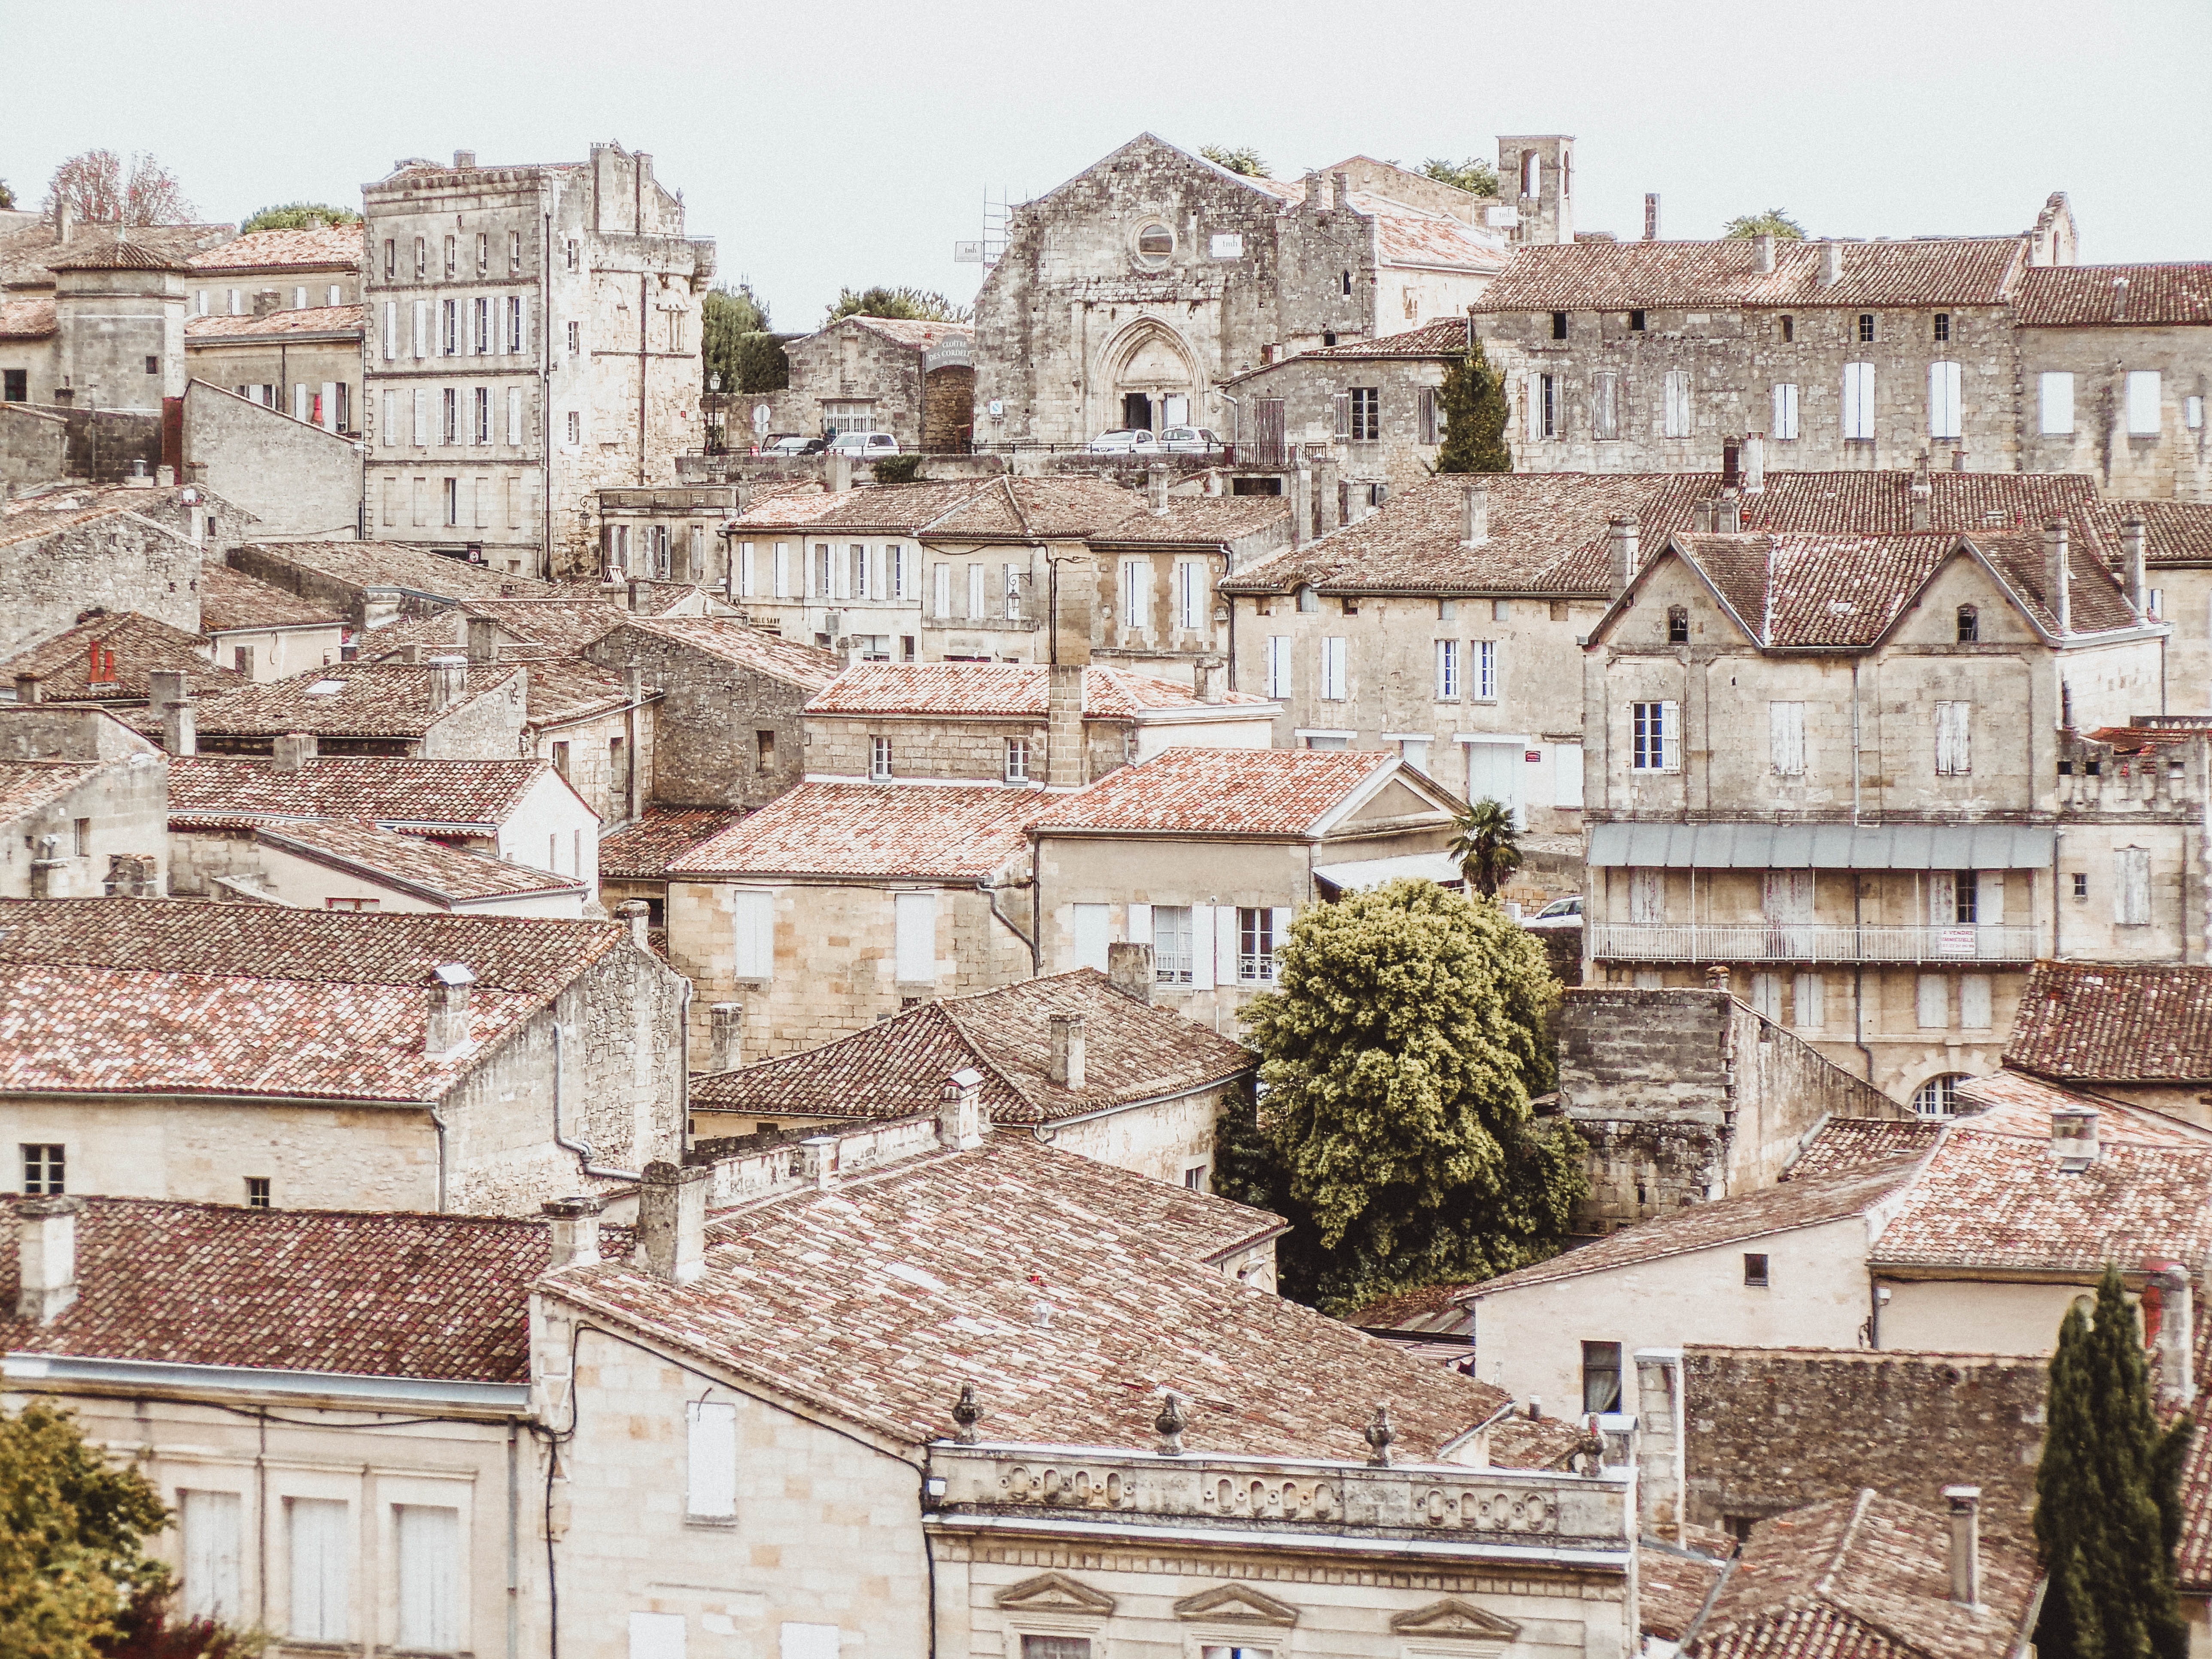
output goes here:
<path id="1" fill-rule="evenodd" d="M 1051 1015 L 1084 1018 L 1084 1088 L 1051 1079 Z M 933 1113 L 945 1079 L 982 1073 L 993 1124 L 1060 1117 L 1188 1095 L 1239 1077 L 1256 1060 L 1172 1009 L 1155 1009 L 1108 984 L 1097 969 L 927 1002 L 920 1009 L 779 1060 L 692 1082 L 692 1104 L 714 1110 L 814 1117 L 911 1117 Z"/>

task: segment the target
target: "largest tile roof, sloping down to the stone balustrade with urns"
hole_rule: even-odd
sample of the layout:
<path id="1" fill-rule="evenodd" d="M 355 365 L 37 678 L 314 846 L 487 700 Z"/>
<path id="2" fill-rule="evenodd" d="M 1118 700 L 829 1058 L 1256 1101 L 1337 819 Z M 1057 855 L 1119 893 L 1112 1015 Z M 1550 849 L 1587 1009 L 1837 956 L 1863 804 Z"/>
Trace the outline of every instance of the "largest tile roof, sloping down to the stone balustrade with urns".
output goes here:
<path id="1" fill-rule="evenodd" d="M 987 1440 L 1150 1447 L 1159 1389 L 1192 1453 L 1365 1460 L 1436 1451 L 1504 1396 L 1201 1265 L 1272 1221 L 1223 1199 L 993 1135 L 726 1212 L 686 1287 L 617 1263 L 546 1292 L 907 1444 L 975 1385 Z M 1044 1310 L 1044 1312 L 1040 1312 Z"/>

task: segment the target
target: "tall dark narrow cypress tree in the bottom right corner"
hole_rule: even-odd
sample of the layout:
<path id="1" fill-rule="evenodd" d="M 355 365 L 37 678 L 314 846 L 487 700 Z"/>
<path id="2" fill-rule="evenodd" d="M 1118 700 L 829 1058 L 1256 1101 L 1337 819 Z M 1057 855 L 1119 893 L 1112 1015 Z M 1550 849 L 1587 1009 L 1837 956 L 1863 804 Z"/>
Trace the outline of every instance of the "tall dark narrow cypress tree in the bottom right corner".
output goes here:
<path id="1" fill-rule="evenodd" d="M 2188 1442 L 2185 1416 L 2159 1429 L 2135 1310 L 2106 1267 L 2097 1312 L 2070 1307 L 2051 1356 L 2035 1469 L 2035 1544 L 2051 1577 L 2042 1659 L 2183 1659 L 2174 1542 Z"/>

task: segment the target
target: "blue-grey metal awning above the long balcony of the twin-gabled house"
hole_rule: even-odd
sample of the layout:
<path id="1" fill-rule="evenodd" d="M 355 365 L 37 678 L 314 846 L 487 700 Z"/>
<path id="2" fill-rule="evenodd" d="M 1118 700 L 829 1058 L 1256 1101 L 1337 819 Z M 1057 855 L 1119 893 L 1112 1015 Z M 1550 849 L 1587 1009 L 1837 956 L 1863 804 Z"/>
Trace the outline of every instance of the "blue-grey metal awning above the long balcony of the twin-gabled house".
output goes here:
<path id="1" fill-rule="evenodd" d="M 2017 823 L 1597 823 L 1595 869 L 2048 869 L 2057 832 Z"/>

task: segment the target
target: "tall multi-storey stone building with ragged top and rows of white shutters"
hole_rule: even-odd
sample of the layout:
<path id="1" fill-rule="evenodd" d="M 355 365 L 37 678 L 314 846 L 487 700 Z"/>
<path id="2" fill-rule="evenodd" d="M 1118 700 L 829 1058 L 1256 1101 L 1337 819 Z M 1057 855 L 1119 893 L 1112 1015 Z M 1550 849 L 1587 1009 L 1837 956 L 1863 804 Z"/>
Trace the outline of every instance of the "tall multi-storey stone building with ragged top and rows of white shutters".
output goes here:
<path id="1" fill-rule="evenodd" d="M 363 434 L 376 535 L 495 568 L 595 575 L 608 484 L 675 482 L 701 445 L 699 294 L 653 157 L 405 161 L 363 190 Z"/>

